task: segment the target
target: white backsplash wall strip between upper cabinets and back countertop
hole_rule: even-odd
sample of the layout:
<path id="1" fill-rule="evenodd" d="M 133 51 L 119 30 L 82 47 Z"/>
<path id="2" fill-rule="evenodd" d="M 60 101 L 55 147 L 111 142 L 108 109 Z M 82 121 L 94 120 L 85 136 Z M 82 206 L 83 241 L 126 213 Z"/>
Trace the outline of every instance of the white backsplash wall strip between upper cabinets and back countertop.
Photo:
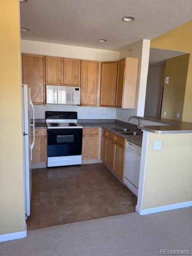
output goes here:
<path id="1" fill-rule="evenodd" d="M 35 118 L 44 119 L 45 111 L 76 111 L 78 119 L 115 119 L 116 116 L 116 108 L 46 104 L 34 106 Z"/>

